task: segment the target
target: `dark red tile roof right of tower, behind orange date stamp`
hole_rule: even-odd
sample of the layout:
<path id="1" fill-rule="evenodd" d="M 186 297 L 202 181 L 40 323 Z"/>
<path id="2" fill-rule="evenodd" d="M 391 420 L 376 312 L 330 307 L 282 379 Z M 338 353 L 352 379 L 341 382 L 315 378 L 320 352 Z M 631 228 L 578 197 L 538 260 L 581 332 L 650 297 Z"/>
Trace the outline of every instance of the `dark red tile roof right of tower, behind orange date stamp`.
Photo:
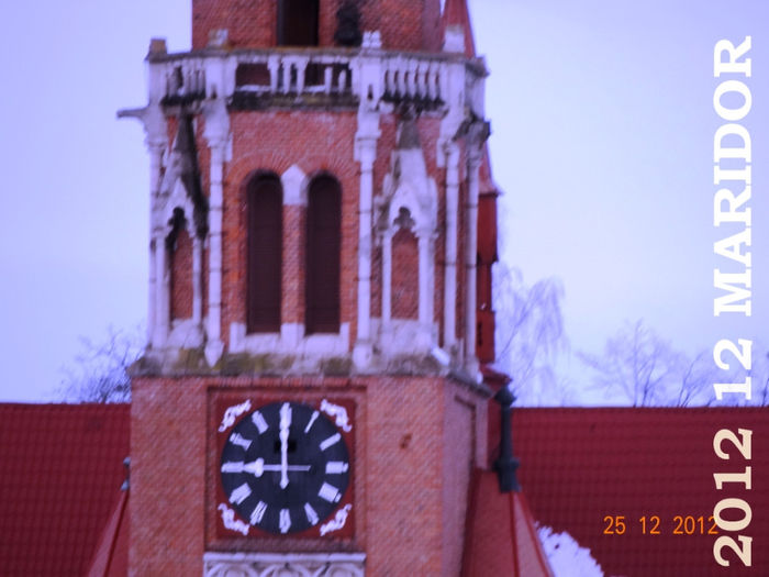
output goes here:
<path id="1" fill-rule="evenodd" d="M 715 455 L 713 436 L 721 429 L 753 431 L 749 463 L 728 442 L 723 448 L 731 459 Z M 767 441 L 766 408 L 516 409 L 513 414 L 519 480 L 534 518 L 589 547 L 608 576 L 769 575 Z M 746 466 L 753 470 L 751 490 L 734 482 L 715 488 L 713 474 L 742 473 Z M 700 518 L 706 533 L 713 508 L 724 498 L 744 499 L 753 510 L 749 526 L 736 533 L 753 537 L 751 569 L 740 569 L 728 551 L 724 556 L 732 565 L 718 566 L 717 535 L 700 534 Z M 617 515 L 624 517 L 625 533 L 604 534 L 616 531 Z M 656 518 L 658 535 L 650 534 Z"/>

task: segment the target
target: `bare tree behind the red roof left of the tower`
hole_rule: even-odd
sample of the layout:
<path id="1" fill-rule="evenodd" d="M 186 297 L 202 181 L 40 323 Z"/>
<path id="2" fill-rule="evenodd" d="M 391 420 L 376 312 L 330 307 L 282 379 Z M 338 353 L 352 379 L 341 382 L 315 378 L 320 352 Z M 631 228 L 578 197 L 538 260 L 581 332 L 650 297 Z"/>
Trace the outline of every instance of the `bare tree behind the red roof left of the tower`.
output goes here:
<path id="1" fill-rule="evenodd" d="M 66 402 L 131 402 L 129 367 L 142 354 L 140 331 L 108 329 L 107 339 L 94 343 L 81 337 L 82 352 L 75 366 L 64 369 L 59 395 Z"/>

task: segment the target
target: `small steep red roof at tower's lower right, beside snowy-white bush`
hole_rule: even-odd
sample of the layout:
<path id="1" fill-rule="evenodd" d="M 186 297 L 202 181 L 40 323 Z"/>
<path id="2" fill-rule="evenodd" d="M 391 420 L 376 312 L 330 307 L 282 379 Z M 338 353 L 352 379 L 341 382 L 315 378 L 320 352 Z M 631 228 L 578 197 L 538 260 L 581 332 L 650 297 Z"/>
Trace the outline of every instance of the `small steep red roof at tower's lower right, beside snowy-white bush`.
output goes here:
<path id="1" fill-rule="evenodd" d="M 551 577 L 522 492 L 500 492 L 497 474 L 477 470 L 468 508 L 462 576 Z"/>

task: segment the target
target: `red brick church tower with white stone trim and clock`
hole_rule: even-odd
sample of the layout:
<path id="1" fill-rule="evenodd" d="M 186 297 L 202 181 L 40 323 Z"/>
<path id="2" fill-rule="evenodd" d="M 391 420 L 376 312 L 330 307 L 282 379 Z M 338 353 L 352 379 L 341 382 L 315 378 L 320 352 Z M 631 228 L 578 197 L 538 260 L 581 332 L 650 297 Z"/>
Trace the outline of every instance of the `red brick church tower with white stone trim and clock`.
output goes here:
<path id="1" fill-rule="evenodd" d="M 464 0 L 192 0 L 146 64 L 131 574 L 459 575 L 495 259 Z"/>

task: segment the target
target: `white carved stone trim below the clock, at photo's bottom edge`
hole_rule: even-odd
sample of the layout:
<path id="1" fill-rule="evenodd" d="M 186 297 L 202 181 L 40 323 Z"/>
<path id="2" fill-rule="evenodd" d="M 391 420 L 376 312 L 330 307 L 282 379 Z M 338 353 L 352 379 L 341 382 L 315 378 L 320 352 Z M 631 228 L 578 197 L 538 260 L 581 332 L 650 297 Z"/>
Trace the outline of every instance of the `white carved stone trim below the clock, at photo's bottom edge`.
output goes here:
<path id="1" fill-rule="evenodd" d="M 203 577 L 364 577 L 365 553 L 203 554 Z"/>

